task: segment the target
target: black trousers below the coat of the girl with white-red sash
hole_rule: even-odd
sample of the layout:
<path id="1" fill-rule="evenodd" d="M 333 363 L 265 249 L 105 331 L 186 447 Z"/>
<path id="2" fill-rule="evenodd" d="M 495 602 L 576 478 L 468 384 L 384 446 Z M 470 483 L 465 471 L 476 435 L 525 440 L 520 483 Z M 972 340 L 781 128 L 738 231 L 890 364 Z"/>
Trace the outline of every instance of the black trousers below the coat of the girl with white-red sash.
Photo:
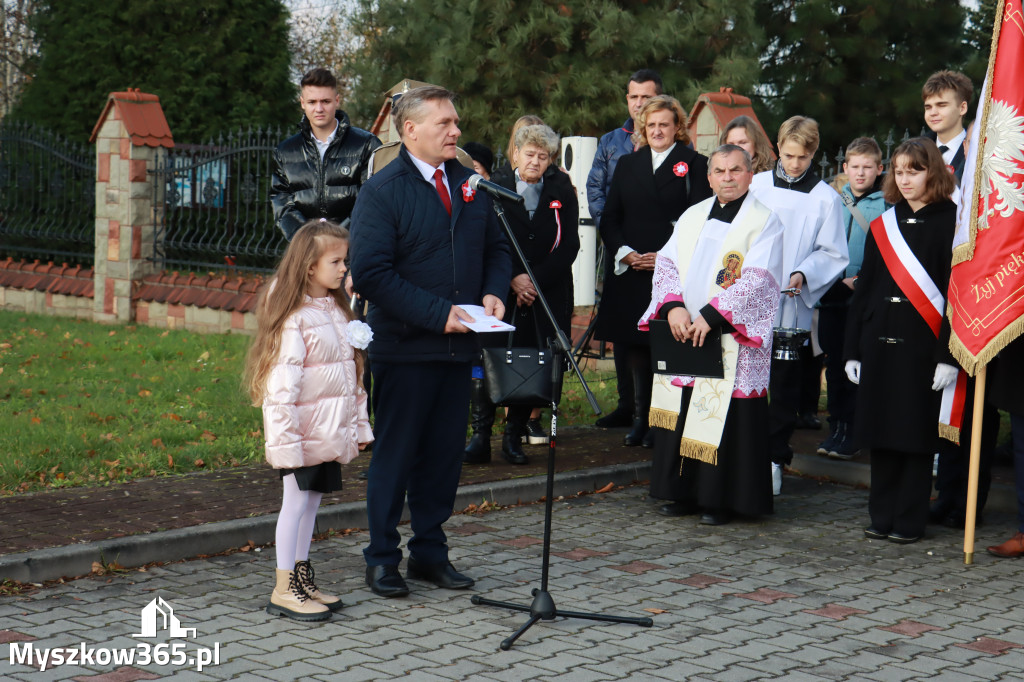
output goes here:
<path id="1" fill-rule="evenodd" d="M 911 538 L 925 535 L 934 457 L 929 453 L 871 450 L 871 491 L 867 498 L 871 527 Z"/>

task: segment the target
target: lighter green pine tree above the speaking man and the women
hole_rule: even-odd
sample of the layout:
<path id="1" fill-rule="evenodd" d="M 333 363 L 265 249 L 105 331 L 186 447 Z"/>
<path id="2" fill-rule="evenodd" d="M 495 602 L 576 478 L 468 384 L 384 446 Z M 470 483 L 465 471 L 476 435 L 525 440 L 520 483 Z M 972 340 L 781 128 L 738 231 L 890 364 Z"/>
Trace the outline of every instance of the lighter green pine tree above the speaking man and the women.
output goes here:
<path id="1" fill-rule="evenodd" d="M 411 78 L 458 92 L 463 139 L 493 146 L 523 114 L 566 135 L 620 125 L 637 69 L 656 69 L 687 111 L 708 89 L 748 90 L 759 71 L 750 0 L 359 0 L 353 31 L 358 120 Z"/>

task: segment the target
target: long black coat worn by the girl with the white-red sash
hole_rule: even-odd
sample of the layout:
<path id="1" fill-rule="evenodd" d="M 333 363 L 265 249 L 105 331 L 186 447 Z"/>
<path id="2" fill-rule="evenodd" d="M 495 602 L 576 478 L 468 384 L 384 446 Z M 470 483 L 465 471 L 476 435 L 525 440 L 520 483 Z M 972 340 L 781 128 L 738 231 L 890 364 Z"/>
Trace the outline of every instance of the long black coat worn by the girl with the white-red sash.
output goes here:
<path id="1" fill-rule="evenodd" d="M 947 291 L 956 205 L 941 201 L 913 213 L 901 201 L 895 210 L 907 246 L 939 291 Z M 932 390 L 935 366 L 956 367 L 949 352 L 949 323 L 943 315 L 936 338 L 905 299 L 886 268 L 872 229 L 850 302 L 844 346 L 845 360 L 861 363 L 856 442 L 859 447 L 935 453 L 941 399 Z"/>

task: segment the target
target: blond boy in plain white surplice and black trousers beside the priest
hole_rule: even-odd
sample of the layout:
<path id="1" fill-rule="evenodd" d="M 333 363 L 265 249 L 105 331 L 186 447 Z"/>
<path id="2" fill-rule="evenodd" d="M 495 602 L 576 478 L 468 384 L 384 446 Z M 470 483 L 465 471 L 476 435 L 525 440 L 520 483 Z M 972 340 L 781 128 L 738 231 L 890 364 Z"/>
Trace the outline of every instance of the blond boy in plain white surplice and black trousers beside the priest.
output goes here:
<path id="1" fill-rule="evenodd" d="M 839 193 L 818 179 L 811 168 L 818 148 L 818 124 L 795 116 L 778 129 L 778 163 L 754 176 L 751 191 L 774 211 L 784 226 L 782 289 L 800 290 L 783 296 L 776 327 L 810 331 L 814 305 L 846 271 L 850 253 L 843 226 Z M 799 360 L 773 360 L 769 441 L 775 495 L 782 486 L 782 467 L 793 461 L 790 437 L 797 425 L 804 374 L 817 371 L 810 347 Z M 820 382 L 820 376 L 817 378 Z"/>

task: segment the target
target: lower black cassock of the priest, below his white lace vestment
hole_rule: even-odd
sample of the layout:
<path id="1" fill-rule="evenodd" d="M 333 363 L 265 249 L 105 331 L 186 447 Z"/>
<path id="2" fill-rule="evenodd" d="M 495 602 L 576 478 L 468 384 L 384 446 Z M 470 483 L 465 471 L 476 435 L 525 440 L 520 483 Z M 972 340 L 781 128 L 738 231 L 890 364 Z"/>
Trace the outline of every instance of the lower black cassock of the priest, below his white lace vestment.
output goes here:
<path id="1" fill-rule="evenodd" d="M 683 389 L 681 414 L 685 414 L 692 390 Z M 654 430 L 651 497 L 696 504 L 707 511 L 751 516 L 772 513 L 768 398 L 730 401 L 717 465 L 679 454 L 684 422 L 685 419 L 680 419 L 675 431 Z"/>

